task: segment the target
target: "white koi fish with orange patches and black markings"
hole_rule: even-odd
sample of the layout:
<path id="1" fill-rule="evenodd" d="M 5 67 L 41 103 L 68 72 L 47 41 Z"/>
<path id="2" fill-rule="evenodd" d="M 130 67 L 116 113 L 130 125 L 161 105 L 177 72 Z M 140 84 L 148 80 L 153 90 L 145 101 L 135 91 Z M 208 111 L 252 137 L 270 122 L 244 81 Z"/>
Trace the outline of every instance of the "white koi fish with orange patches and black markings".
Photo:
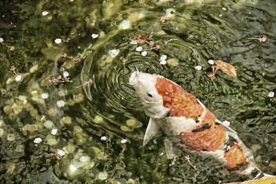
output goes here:
<path id="1" fill-rule="evenodd" d="M 129 83 L 141 99 L 145 114 L 150 116 L 143 145 L 162 130 L 166 135 L 168 159 L 173 158 L 168 152 L 173 152 L 176 146 L 213 156 L 228 170 L 246 178 L 271 176 L 259 170 L 237 132 L 221 123 L 204 104 L 177 83 L 138 70 L 130 75 Z M 273 178 L 276 180 L 276 176 Z"/>

